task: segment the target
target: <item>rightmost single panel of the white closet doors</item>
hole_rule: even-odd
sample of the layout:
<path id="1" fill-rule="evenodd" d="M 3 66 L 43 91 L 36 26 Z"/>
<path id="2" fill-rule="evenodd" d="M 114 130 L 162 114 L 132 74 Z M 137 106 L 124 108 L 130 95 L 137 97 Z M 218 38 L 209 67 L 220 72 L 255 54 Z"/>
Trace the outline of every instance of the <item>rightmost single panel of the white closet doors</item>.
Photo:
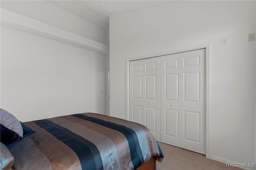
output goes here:
<path id="1" fill-rule="evenodd" d="M 181 53 L 183 61 L 182 148 L 205 154 L 205 49 Z"/>

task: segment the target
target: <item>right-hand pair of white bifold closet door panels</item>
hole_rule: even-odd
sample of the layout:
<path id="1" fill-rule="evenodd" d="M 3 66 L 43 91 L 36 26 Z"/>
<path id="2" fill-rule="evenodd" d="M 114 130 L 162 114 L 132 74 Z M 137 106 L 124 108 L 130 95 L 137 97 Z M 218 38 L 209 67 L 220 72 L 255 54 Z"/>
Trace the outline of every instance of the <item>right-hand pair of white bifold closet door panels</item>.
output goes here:
<path id="1" fill-rule="evenodd" d="M 205 154 L 205 49 L 161 57 L 161 142 Z"/>

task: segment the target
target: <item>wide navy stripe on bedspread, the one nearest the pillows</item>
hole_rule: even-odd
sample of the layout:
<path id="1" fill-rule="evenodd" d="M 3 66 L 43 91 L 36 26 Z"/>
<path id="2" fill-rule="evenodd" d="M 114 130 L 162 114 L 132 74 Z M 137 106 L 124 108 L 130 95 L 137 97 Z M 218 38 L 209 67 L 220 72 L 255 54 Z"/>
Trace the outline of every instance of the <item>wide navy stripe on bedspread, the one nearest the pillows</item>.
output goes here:
<path id="1" fill-rule="evenodd" d="M 51 121 L 33 122 L 69 146 L 77 154 L 82 170 L 103 170 L 100 152 L 92 142 Z"/>

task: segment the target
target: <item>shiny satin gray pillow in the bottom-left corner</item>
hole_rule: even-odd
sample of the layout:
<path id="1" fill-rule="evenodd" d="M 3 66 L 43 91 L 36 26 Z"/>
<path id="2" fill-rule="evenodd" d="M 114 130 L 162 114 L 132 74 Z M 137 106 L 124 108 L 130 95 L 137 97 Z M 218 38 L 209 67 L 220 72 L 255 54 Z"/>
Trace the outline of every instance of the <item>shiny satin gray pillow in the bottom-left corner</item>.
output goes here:
<path id="1" fill-rule="evenodd" d="M 14 164 L 14 156 L 10 150 L 1 143 L 0 147 L 0 170 L 11 170 Z"/>

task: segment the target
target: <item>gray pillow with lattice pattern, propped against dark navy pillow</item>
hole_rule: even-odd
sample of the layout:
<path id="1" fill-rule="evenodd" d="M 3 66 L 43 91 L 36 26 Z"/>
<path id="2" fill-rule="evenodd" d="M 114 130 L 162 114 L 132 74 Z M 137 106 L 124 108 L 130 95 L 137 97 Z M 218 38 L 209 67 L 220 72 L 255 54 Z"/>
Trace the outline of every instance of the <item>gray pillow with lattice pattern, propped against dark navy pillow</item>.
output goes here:
<path id="1" fill-rule="evenodd" d="M 0 109 L 0 123 L 4 127 L 12 130 L 21 138 L 23 137 L 23 129 L 18 119 L 4 109 Z"/>

